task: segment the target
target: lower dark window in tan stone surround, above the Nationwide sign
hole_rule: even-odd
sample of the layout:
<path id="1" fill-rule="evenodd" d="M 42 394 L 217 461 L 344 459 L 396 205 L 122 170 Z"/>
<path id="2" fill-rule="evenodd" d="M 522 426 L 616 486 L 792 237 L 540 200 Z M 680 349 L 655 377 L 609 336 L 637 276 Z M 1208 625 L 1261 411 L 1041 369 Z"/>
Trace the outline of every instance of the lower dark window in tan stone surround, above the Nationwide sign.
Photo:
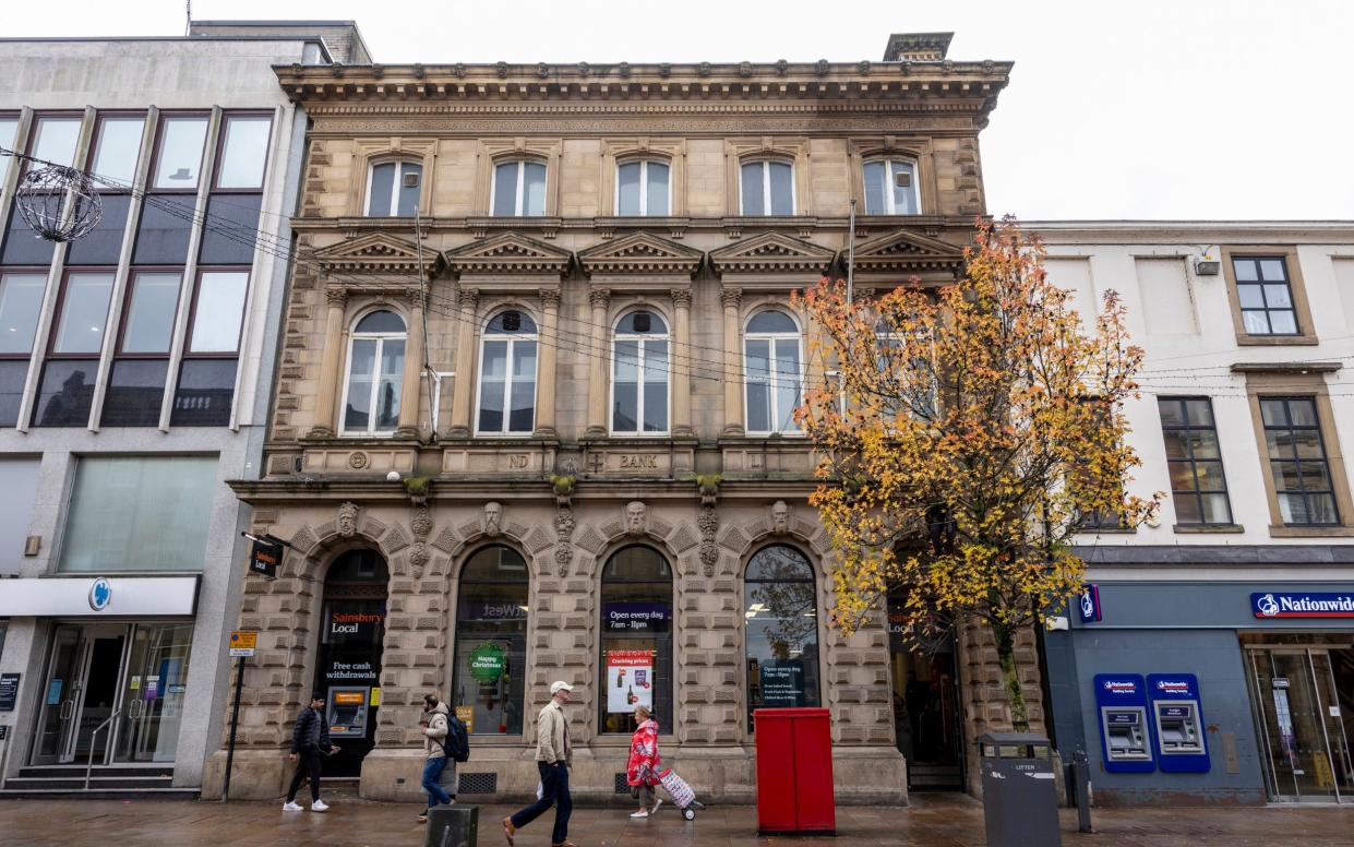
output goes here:
<path id="1" fill-rule="evenodd" d="M 1261 397 L 1261 420 L 1270 476 L 1286 526 L 1332 526 L 1335 507 L 1331 466 L 1316 415 L 1315 397 Z"/>

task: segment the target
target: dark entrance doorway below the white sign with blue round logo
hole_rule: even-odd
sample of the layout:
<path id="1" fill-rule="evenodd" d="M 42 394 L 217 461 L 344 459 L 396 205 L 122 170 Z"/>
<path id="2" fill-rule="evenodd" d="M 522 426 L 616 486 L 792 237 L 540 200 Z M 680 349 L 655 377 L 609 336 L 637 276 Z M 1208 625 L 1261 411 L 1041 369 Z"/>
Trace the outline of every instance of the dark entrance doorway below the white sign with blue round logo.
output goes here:
<path id="1" fill-rule="evenodd" d="M 119 706 L 126 642 L 127 627 L 122 625 L 57 626 L 43 680 L 34 764 L 83 763 L 91 753 L 95 764 L 107 762 L 116 721 L 99 726 Z"/>

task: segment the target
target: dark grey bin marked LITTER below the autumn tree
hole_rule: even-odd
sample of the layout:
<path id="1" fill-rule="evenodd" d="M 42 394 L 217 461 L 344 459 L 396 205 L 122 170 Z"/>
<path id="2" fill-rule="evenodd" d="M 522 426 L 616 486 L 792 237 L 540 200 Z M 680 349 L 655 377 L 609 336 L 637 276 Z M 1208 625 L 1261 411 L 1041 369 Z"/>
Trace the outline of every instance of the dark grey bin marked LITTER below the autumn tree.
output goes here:
<path id="1" fill-rule="evenodd" d="M 978 739 L 987 847 L 1062 847 L 1053 747 L 1030 732 Z"/>

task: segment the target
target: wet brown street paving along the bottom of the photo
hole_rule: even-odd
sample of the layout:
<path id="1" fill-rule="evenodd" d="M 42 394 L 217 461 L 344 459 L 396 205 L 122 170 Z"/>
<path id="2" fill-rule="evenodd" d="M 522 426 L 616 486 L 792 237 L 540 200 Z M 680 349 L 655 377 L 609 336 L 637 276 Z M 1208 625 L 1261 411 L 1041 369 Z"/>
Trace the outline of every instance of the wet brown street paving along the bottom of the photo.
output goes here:
<path id="1" fill-rule="evenodd" d="M 0 844 L 56 847 L 421 847 L 417 805 L 378 804 L 334 797 L 324 814 L 283 813 L 282 804 L 199 801 L 0 801 Z M 483 847 L 505 847 L 498 820 L 510 809 L 481 808 Z M 837 839 L 758 838 L 756 809 L 709 808 L 684 821 L 663 808 L 657 817 L 632 821 L 628 809 L 580 808 L 569 836 L 580 847 L 983 847 L 983 809 L 967 797 L 913 796 L 906 809 L 845 806 L 837 813 Z M 547 847 L 551 814 L 521 829 L 517 847 Z M 1075 817 L 1063 814 L 1068 847 L 1305 847 L 1354 846 L 1354 806 L 1248 809 L 1101 809 L 1095 835 L 1080 835 Z"/>

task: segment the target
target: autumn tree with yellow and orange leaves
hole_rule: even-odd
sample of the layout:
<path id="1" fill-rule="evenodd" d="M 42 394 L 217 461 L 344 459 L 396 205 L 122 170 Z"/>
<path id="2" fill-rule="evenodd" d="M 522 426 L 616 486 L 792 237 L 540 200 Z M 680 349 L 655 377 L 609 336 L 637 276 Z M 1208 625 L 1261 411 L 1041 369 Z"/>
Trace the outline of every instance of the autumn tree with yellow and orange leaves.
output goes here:
<path id="1" fill-rule="evenodd" d="M 1017 632 L 1079 591 L 1078 533 L 1106 516 L 1136 526 L 1160 499 L 1125 492 L 1143 352 L 1114 293 L 1087 331 L 1013 221 L 980 221 L 964 257 L 944 287 L 914 279 L 867 302 L 841 281 L 807 291 L 815 352 L 839 378 L 798 415 L 822 455 L 811 503 L 835 549 L 834 623 L 856 630 L 895 590 L 917 637 L 986 622 L 1024 728 Z"/>

